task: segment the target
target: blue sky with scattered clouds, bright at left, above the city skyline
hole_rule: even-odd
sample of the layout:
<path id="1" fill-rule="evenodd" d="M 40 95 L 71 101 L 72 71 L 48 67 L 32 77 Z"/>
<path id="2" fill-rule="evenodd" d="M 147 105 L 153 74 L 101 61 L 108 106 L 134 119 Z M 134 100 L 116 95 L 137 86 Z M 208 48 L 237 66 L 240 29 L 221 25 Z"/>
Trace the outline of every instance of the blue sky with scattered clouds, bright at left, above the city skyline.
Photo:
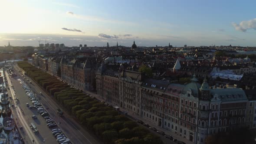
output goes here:
<path id="1" fill-rule="evenodd" d="M 0 0 L 0 46 L 256 46 L 254 0 Z M 39 42 L 40 41 L 40 42 Z"/>

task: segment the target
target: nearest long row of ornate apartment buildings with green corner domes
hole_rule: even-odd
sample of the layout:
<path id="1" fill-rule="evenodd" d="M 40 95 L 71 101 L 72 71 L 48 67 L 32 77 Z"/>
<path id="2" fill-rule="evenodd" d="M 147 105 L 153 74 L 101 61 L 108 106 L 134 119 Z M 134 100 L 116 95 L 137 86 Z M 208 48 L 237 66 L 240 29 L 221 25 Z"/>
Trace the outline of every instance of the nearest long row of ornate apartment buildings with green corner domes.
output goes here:
<path id="1" fill-rule="evenodd" d="M 256 101 L 241 88 L 210 87 L 196 75 L 186 85 L 151 79 L 140 72 L 109 69 L 102 63 L 96 73 L 98 95 L 109 103 L 132 111 L 151 123 L 204 144 L 219 131 L 256 128 Z"/>

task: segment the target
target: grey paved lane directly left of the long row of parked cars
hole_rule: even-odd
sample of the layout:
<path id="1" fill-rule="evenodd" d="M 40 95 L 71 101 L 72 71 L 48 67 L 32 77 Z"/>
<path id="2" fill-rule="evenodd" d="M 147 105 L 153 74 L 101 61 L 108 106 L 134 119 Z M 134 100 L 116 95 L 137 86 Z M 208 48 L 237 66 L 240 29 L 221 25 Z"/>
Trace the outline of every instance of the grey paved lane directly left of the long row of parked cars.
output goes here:
<path id="1" fill-rule="evenodd" d="M 17 94 L 16 97 L 19 98 L 18 105 L 20 106 L 20 108 L 23 109 L 24 111 L 23 114 L 26 115 L 26 120 L 28 124 L 33 122 L 34 124 L 36 124 L 36 127 L 39 130 L 39 134 L 37 135 L 37 137 L 41 141 L 45 140 L 45 142 L 49 142 L 51 144 L 57 144 L 56 139 L 51 134 L 52 131 L 47 127 L 44 118 L 35 109 L 29 109 L 29 107 L 26 106 L 26 103 L 29 103 L 30 105 L 33 105 L 33 104 L 30 101 L 30 99 L 27 97 L 20 82 L 18 82 L 15 79 L 11 79 L 11 80 L 13 82 L 12 83 L 13 87 L 16 89 L 16 94 Z M 32 118 L 32 115 L 36 115 L 37 121 L 34 121 L 34 119 Z"/>

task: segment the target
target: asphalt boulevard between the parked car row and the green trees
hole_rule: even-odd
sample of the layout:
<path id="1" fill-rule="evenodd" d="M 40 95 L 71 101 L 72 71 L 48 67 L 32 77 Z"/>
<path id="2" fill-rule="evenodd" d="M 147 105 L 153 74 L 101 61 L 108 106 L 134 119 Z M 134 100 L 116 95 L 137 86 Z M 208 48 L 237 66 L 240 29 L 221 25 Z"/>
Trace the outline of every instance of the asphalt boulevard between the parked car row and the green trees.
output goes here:
<path id="1" fill-rule="evenodd" d="M 21 75 L 21 73 L 18 71 L 20 70 L 22 72 L 23 70 L 20 69 L 17 65 L 14 65 L 14 68 L 16 69 L 16 73 Z M 26 77 L 26 79 L 32 81 L 32 84 L 28 85 L 30 85 L 34 93 L 39 94 L 39 92 L 42 92 L 43 95 L 37 95 L 37 97 L 40 98 L 40 103 L 45 108 L 49 108 L 49 115 L 58 123 L 59 128 L 62 129 L 63 133 L 66 134 L 66 136 L 73 144 L 102 144 L 102 142 L 97 137 L 95 137 L 94 134 L 90 134 L 88 131 L 85 131 L 85 129 L 82 128 L 81 125 L 77 123 L 70 115 L 68 115 L 64 109 L 62 109 L 64 116 L 59 117 L 56 113 L 56 110 L 60 107 L 54 97 L 48 95 L 44 89 L 42 89 L 29 77 Z"/>

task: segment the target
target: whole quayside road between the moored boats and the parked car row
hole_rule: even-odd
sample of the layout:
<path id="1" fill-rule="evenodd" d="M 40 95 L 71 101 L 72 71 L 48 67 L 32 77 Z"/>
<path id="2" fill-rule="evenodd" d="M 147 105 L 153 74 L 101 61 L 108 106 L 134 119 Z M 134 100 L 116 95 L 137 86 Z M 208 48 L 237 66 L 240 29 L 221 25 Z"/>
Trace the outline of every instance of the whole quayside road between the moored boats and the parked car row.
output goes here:
<path id="1" fill-rule="evenodd" d="M 52 131 L 47 127 L 44 118 L 39 115 L 39 113 L 33 109 L 30 110 L 26 103 L 32 105 L 30 99 L 27 97 L 24 89 L 20 85 L 20 83 L 11 77 L 9 77 L 8 73 L 5 72 L 7 75 L 7 81 L 10 88 L 9 95 L 11 94 L 14 107 L 12 107 L 12 114 L 15 121 L 17 121 L 18 126 L 22 126 L 23 130 L 25 131 L 24 134 L 27 135 L 29 138 L 28 141 L 31 144 L 57 144 L 55 137 L 52 135 Z M 10 85 L 13 85 L 11 88 Z M 14 93 L 14 90 L 16 93 Z M 14 96 L 15 95 L 15 96 Z M 16 105 L 15 98 L 19 99 L 19 102 Z M 21 112 L 21 109 L 23 112 Z M 37 119 L 33 120 L 32 115 L 36 115 Z M 39 134 L 35 134 L 32 129 L 30 128 L 30 123 L 33 122 L 39 130 Z M 21 133 L 23 134 L 23 133 Z M 34 140 L 34 143 L 33 143 Z"/>

